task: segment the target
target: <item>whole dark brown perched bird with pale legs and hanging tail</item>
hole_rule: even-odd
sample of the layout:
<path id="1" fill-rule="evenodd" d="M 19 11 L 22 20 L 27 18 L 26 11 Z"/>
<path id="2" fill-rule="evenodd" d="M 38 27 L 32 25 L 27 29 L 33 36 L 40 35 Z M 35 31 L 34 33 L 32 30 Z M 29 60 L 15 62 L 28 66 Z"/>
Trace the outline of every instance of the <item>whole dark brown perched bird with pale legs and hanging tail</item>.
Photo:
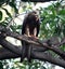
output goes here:
<path id="1" fill-rule="evenodd" d="M 32 12 L 28 13 L 24 18 L 23 26 L 22 26 L 22 34 L 37 38 L 38 33 L 39 33 L 39 29 L 40 29 L 39 16 L 38 16 L 37 12 L 32 11 Z M 25 41 L 22 41 L 22 45 L 23 46 L 22 46 L 21 61 L 24 59 L 24 57 L 27 57 L 27 52 L 29 50 L 28 46 L 30 46 L 30 44 L 28 44 Z M 27 57 L 28 60 L 30 60 L 29 57 Z"/>

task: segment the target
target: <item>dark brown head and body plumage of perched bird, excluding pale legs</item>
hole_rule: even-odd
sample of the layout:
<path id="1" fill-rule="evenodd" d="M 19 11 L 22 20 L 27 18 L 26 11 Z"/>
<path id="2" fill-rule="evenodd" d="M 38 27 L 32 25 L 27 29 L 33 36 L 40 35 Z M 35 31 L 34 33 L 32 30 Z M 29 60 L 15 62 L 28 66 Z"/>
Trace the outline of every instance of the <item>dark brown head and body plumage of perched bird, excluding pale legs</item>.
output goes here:
<path id="1" fill-rule="evenodd" d="M 32 11 L 28 13 L 23 22 L 23 27 L 22 27 L 22 34 L 26 34 L 27 27 L 29 29 L 29 34 L 34 34 L 34 29 L 36 28 L 37 33 L 36 37 L 38 37 L 39 33 L 39 28 L 40 28 L 40 22 L 39 17 L 37 15 L 37 12 Z"/>

